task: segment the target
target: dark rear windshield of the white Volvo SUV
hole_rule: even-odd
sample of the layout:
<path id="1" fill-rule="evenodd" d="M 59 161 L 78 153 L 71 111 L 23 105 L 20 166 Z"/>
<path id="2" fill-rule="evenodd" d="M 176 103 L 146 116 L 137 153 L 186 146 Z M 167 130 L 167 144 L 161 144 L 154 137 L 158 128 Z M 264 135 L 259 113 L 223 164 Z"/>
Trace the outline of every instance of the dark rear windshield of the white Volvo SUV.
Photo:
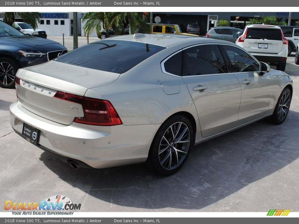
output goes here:
<path id="1" fill-rule="evenodd" d="M 282 40 L 280 29 L 269 28 L 248 28 L 246 38 Z"/>

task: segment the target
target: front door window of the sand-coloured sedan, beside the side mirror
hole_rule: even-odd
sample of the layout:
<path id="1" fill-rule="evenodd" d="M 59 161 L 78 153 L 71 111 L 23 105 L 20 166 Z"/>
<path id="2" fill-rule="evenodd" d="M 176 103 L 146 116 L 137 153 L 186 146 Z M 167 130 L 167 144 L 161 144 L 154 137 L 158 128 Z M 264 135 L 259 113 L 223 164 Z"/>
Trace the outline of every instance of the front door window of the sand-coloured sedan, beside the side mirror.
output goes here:
<path id="1" fill-rule="evenodd" d="M 230 70 L 232 72 L 258 72 L 259 63 L 257 63 L 249 54 L 240 48 L 223 45 L 230 60 Z"/>

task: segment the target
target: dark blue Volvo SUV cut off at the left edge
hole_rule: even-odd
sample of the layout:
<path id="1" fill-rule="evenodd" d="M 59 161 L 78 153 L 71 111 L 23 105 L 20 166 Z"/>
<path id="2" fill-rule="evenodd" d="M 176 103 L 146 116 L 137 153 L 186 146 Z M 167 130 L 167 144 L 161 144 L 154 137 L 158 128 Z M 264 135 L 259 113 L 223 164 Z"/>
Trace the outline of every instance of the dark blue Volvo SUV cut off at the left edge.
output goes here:
<path id="1" fill-rule="evenodd" d="M 28 36 L 0 21 L 0 86 L 15 85 L 19 68 L 41 64 L 67 53 L 67 49 L 44 38 Z"/>

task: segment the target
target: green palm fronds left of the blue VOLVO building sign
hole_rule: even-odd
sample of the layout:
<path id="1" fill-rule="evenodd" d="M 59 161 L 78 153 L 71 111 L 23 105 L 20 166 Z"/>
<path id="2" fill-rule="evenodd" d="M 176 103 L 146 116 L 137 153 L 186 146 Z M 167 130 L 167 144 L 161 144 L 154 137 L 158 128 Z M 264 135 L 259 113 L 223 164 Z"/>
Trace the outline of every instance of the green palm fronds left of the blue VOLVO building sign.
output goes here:
<path id="1" fill-rule="evenodd" d="M 40 23 L 40 13 L 39 12 L 5 12 L 4 22 L 12 26 L 15 21 L 15 15 L 18 14 L 22 20 L 32 26 L 33 29 L 37 29 Z"/>

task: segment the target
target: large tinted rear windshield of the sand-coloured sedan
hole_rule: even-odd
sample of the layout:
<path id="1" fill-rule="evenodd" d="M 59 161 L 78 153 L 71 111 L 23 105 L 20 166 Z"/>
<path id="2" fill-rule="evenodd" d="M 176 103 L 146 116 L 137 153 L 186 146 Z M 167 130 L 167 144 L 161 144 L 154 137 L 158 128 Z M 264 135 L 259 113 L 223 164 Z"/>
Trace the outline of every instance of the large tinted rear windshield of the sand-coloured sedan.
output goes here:
<path id="1" fill-rule="evenodd" d="M 163 49 L 165 47 L 134 41 L 100 40 L 64 54 L 55 61 L 124 73 Z"/>

